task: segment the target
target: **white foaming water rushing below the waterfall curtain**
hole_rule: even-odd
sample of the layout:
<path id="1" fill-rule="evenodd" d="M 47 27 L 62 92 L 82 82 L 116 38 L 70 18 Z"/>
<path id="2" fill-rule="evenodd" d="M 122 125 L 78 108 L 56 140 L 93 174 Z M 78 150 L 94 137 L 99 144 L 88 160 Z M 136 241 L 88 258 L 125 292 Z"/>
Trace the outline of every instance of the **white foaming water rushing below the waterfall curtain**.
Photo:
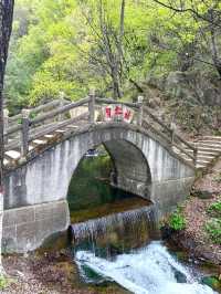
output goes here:
<path id="1" fill-rule="evenodd" d="M 135 294 L 214 294 L 201 285 L 191 271 L 169 254 L 160 242 L 129 254 L 120 254 L 114 261 L 95 256 L 87 251 L 76 253 L 76 262 L 113 281 Z M 178 283 L 176 273 L 186 279 Z"/>

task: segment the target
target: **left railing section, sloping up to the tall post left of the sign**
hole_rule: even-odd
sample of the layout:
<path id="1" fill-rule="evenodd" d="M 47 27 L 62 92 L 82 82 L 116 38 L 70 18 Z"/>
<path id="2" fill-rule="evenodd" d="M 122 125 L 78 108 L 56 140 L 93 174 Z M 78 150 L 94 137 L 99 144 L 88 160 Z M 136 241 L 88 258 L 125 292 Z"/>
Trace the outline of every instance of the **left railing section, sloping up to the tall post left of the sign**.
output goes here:
<path id="1" fill-rule="evenodd" d="M 8 151 L 10 149 L 20 148 L 21 154 L 25 156 L 29 153 L 29 144 L 32 140 L 55 132 L 59 128 L 74 124 L 77 120 L 88 119 L 88 111 L 76 117 L 70 117 L 69 112 L 83 105 L 87 105 L 88 107 L 90 102 L 91 98 L 86 97 L 69 104 L 66 101 L 63 101 L 62 106 L 61 102 L 53 102 L 41 105 L 38 108 L 23 109 L 20 115 L 13 118 L 14 123 L 10 125 L 6 123 L 4 118 L 4 150 Z M 44 112 L 32 118 L 30 114 L 33 112 L 36 114 L 36 111 L 39 113 L 40 111 Z"/>

